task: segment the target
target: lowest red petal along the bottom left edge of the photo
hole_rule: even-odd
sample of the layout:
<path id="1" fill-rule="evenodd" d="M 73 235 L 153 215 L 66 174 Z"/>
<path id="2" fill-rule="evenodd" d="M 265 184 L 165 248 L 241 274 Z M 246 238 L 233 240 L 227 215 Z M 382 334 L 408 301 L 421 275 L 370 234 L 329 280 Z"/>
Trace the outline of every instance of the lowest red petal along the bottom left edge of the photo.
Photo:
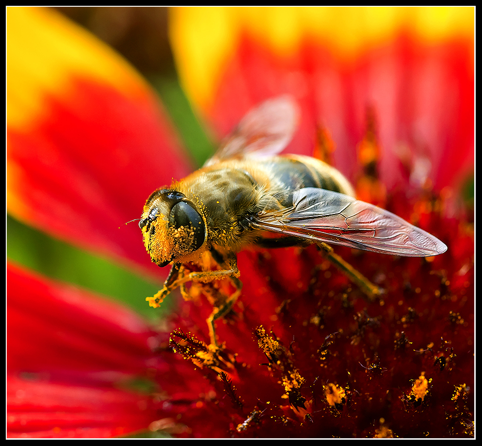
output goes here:
<path id="1" fill-rule="evenodd" d="M 145 395 L 7 377 L 7 438 L 110 438 L 155 419 Z"/>

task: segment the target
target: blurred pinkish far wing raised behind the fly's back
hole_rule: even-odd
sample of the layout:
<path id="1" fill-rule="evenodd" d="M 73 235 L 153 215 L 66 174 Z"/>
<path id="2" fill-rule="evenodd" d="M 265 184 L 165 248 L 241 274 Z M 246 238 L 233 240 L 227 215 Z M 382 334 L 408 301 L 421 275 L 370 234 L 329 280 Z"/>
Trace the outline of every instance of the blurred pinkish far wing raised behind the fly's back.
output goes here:
<path id="1" fill-rule="evenodd" d="M 291 141 L 297 121 L 298 107 L 291 97 L 268 99 L 241 119 L 204 166 L 247 154 L 253 157 L 277 155 Z"/>

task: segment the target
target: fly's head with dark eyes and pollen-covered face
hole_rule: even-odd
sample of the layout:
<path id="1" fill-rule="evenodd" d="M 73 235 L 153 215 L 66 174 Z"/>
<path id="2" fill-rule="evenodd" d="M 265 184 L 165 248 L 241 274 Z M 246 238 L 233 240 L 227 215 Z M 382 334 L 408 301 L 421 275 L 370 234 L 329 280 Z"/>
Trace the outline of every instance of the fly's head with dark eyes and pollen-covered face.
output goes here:
<path id="1" fill-rule="evenodd" d="M 169 189 L 150 195 L 139 227 L 152 261 L 161 267 L 200 249 L 207 235 L 196 206 L 181 192 Z"/>

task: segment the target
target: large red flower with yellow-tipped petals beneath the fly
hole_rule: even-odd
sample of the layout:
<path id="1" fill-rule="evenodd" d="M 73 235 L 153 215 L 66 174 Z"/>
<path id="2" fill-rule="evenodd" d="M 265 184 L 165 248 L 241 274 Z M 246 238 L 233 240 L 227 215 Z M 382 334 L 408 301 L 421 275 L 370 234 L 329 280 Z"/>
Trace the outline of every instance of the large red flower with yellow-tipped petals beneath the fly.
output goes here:
<path id="1" fill-rule="evenodd" d="M 238 258 L 242 294 L 216 323 L 222 349 L 208 345 L 212 307 L 198 291 L 223 293 L 223 284 L 192 285 L 191 300 L 153 330 L 118 306 L 59 293 L 57 285 L 12 268 L 9 415 L 15 398 L 17 414 L 36 407 L 50 415 L 43 429 L 18 416 L 9 433 L 88 437 L 149 427 L 214 438 L 473 436 L 473 215 L 458 198 L 461 178 L 473 170 L 470 11 L 173 9 L 180 77 L 212 128 L 225 134 L 254 103 L 292 94 L 302 119 L 289 149 L 311 154 L 315 148 L 331 158 L 364 199 L 436 233 L 448 252 L 420 259 L 337 249 L 385 290 L 367 299 L 314 247 L 245 250 Z M 134 248 L 133 230 L 112 234 L 119 221 L 139 213 L 138 199 L 188 167 L 146 85 L 126 75 L 125 65 L 111 65 L 105 50 L 95 59 L 102 63 L 89 63 L 94 44 L 79 48 L 90 38 L 78 38 L 78 31 L 69 31 L 69 40 L 53 38 L 71 28 L 45 10 L 9 8 L 8 14 L 9 30 L 15 15 L 33 33 L 50 21 L 49 33 L 43 31 L 48 44 L 35 39 L 50 50 L 31 57 L 58 54 L 52 42 L 68 43 L 67 54 L 82 56 L 60 53 L 56 71 L 66 78 L 44 74 L 31 82 L 30 76 L 24 90 L 37 102 L 25 108 L 24 97 L 9 109 L 15 118 L 8 126 L 9 212 L 152 274 Z M 436 26 L 441 19 L 445 27 Z M 27 49 L 14 48 L 9 54 Z M 47 63 L 39 66 L 51 72 Z M 22 91 L 10 85 L 9 101 Z M 152 135 L 159 155 L 147 143 Z M 139 169 L 131 169 L 135 160 Z M 25 296 L 41 308 L 30 323 Z M 70 307 L 79 308 L 78 317 Z M 22 324 L 29 330 L 20 330 Z M 60 345 L 56 331 L 50 334 L 56 326 L 68 333 Z M 133 391 L 139 379 L 144 393 Z M 81 395 L 75 407 L 82 410 L 72 410 L 69 395 Z M 80 416 L 66 417 L 62 427 L 50 407 Z M 109 416 L 95 430 L 99 407 Z"/>

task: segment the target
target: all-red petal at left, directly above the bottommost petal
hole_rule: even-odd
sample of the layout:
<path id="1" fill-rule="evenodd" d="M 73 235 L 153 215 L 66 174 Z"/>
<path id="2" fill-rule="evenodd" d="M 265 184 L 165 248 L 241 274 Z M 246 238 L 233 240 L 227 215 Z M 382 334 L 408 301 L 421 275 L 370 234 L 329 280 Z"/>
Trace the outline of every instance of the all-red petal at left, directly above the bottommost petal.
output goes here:
<path id="1" fill-rule="evenodd" d="M 118 304 L 73 286 L 7 269 L 10 371 L 139 373 L 151 350 L 147 325 Z M 107 378 L 107 377 L 106 377 Z"/>

